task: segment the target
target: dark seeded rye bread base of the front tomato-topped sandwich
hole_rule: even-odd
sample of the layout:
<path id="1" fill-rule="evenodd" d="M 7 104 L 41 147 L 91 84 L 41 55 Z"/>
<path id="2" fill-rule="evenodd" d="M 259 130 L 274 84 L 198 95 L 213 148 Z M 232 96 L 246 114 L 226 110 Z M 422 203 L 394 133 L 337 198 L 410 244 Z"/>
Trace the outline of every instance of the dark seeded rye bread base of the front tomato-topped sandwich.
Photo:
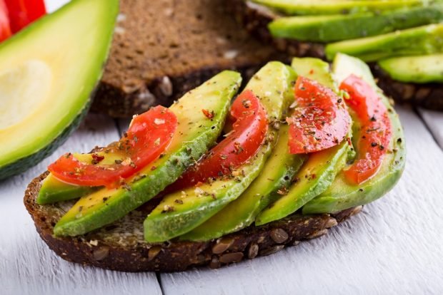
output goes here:
<path id="1" fill-rule="evenodd" d="M 326 234 L 330 227 L 361 211 L 362 206 L 337 214 L 294 214 L 262 227 L 250 226 L 209 242 L 172 240 L 161 244 L 144 242 L 143 221 L 156 205 L 148 204 L 109 226 L 79 237 L 54 237 L 54 225 L 74 204 L 37 205 L 41 181 L 28 186 L 24 204 L 40 237 L 56 254 L 69 262 L 116 271 L 183 271 L 192 266 L 218 268 L 232 262 L 275 253 L 299 241 Z M 158 202 L 158 201 L 157 201 Z"/>

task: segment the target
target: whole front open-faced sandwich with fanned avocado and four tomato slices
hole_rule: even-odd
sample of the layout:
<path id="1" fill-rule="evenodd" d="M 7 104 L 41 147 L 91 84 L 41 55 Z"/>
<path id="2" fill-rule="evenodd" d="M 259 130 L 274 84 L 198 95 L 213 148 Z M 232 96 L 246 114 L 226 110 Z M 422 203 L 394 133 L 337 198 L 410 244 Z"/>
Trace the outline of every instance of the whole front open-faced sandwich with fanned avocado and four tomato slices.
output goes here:
<path id="1" fill-rule="evenodd" d="M 236 95 L 241 81 L 221 72 L 49 165 L 24 197 L 41 238 L 106 269 L 219 267 L 318 237 L 399 180 L 402 126 L 364 62 L 269 62 Z"/>

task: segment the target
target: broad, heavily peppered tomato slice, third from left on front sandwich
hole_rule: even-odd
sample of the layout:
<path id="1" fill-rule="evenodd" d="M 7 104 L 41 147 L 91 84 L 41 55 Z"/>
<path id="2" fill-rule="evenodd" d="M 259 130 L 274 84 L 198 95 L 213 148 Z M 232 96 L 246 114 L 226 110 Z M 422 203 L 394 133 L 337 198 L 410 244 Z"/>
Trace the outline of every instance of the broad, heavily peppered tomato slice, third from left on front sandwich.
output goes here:
<path id="1" fill-rule="evenodd" d="M 289 152 L 318 152 L 338 145 L 351 120 L 342 98 L 316 81 L 299 77 L 295 84 L 297 108 L 290 118 Z"/>

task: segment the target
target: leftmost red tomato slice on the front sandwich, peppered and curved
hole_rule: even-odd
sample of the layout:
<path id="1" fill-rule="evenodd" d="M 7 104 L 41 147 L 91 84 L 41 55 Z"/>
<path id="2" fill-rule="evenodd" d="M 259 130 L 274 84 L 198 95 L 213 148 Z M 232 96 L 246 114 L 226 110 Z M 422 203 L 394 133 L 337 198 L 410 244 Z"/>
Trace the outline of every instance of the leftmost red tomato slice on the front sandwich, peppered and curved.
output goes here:
<path id="1" fill-rule="evenodd" d="M 105 148 L 104 153 L 92 154 L 91 163 L 80 162 L 69 153 L 49 165 L 48 170 L 59 180 L 74 185 L 114 187 L 159 157 L 171 143 L 176 127 L 174 113 L 161 106 L 151 108 L 132 120 L 128 132 L 117 143 Z M 101 165 L 106 155 L 119 155 L 121 160 Z"/>

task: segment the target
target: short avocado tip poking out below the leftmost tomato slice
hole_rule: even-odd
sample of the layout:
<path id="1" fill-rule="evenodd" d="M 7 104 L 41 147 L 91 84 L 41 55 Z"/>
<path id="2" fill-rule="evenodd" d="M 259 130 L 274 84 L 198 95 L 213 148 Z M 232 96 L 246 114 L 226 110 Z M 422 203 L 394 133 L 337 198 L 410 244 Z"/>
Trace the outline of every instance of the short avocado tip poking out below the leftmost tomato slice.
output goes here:
<path id="1" fill-rule="evenodd" d="M 57 180 L 54 175 L 49 174 L 43 182 L 41 182 L 37 204 L 44 205 L 77 199 L 84 195 L 89 195 L 98 189 L 98 187 L 70 185 L 69 183 Z"/>

